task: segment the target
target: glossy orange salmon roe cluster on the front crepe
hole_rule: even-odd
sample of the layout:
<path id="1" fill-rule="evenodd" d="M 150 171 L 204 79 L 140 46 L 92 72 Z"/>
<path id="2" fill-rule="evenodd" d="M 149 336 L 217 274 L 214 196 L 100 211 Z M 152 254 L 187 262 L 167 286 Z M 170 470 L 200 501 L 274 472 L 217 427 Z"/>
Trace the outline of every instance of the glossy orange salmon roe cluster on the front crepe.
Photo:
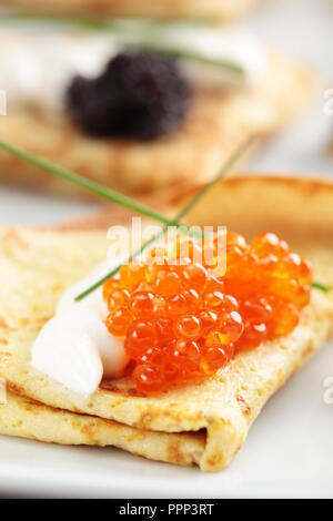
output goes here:
<path id="1" fill-rule="evenodd" d="M 103 286 L 107 327 L 124 339 L 144 395 L 213 375 L 236 353 L 287 335 L 310 300 L 310 263 L 276 235 L 248 244 L 228 232 L 223 252 L 218 239 L 178 238 L 172 255 L 154 248 Z"/>

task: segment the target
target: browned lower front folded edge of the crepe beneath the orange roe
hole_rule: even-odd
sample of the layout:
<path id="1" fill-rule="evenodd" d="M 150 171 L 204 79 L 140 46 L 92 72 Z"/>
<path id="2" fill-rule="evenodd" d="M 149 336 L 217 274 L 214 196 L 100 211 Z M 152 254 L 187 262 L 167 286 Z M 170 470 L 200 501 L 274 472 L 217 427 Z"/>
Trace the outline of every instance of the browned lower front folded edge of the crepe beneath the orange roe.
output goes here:
<path id="1" fill-rule="evenodd" d="M 48 407 L 8 392 L 0 403 L 0 435 L 64 446 L 114 447 L 153 461 L 199 466 L 205 433 L 145 431 Z"/>

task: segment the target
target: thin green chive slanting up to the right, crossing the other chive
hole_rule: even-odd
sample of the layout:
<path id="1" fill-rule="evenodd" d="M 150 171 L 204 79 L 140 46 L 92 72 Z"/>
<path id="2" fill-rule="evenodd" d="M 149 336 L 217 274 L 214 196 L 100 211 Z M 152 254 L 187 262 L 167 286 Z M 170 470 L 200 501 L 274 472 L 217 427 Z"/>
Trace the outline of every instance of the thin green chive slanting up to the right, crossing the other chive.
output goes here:
<path id="1" fill-rule="evenodd" d="M 210 181 L 206 185 L 204 185 L 195 195 L 190 200 L 190 202 L 178 213 L 178 215 L 174 218 L 175 224 L 180 224 L 180 219 L 190 212 L 190 210 L 203 197 L 203 195 L 214 186 L 222 177 L 224 177 L 230 170 L 238 163 L 238 161 L 241 159 L 241 156 L 245 153 L 245 151 L 250 147 L 250 145 L 254 142 L 256 139 L 256 135 L 251 135 L 248 137 L 240 146 L 239 149 L 229 157 L 229 160 L 225 162 L 225 164 L 222 166 L 222 168 L 219 170 L 219 173 Z M 140 249 L 138 249 L 135 253 L 130 255 L 127 259 L 127 262 L 130 262 L 132 258 L 138 257 L 141 255 L 144 249 L 153 244 L 155 241 L 158 241 L 160 237 L 162 237 L 165 232 L 168 231 L 168 226 L 164 226 L 164 228 L 157 234 L 154 237 L 150 238 L 147 243 L 144 243 Z M 94 289 L 100 287 L 102 284 L 104 284 L 109 278 L 114 277 L 119 269 L 121 268 L 121 264 L 118 265 L 115 268 L 112 269 L 108 275 L 105 275 L 103 278 L 98 280 L 95 284 L 90 286 L 88 289 L 82 292 L 80 295 L 75 297 L 75 300 L 82 300 L 82 298 L 87 297 L 90 293 L 92 293 Z"/>

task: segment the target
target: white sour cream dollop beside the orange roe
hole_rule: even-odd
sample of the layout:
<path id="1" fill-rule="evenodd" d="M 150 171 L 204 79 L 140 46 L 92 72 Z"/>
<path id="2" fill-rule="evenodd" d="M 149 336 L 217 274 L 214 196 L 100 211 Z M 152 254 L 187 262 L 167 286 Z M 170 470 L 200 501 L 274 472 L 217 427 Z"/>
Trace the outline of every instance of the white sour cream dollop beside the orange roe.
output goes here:
<path id="1" fill-rule="evenodd" d="M 94 392 L 102 378 L 120 376 L 128 362 L 123 341 L 110 335 L 104 325 L 107 306 L 102 288 L 74 302 L 75 296 L 113 266 L 103 263 L 67 289 L 56 316 L 46 324 L 31 348 L 32 367 L 75 392 Z"/>

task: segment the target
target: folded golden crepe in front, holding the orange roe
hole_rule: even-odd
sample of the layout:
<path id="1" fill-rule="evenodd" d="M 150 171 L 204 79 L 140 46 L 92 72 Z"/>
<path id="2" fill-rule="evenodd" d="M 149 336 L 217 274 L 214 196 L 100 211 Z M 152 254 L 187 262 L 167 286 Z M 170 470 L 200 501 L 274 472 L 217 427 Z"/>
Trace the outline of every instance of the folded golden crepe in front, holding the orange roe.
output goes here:
<path id="1" fill-rule="evenodd" d="M 235 177 L 211 191 L 189 223 L 228 225 L 248 238 L 264 229 L 281 234 L 312 260 L 316 280 L 333 285 L 332 202 L 327 181 Z M 150 459 L 223 469 L 268 399 L 332 337 L 332 293 L 313 289 L 292 334 L 240 353 L 201 384 L 142 397 L 122 378 L 81 396 L 33 369 L 30 347 L 60 294 L 103 259 L 110 224 L 108 210 L 62 229 L 0 229 L 0 376 L 10 390 L 0 407 L 0 432 L 111 445 Z"/>

